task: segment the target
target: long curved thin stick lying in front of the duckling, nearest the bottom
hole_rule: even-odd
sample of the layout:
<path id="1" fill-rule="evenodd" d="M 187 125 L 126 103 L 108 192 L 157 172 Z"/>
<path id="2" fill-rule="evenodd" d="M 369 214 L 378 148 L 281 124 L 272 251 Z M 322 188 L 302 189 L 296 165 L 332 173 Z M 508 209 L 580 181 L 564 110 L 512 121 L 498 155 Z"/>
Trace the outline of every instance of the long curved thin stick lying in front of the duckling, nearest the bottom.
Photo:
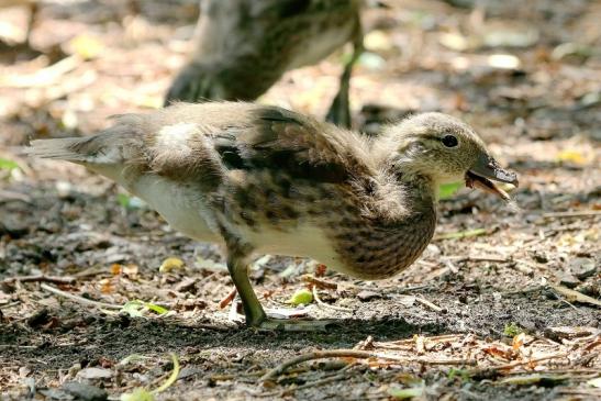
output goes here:
<path id="1" fill-rule="evenodd" d="M 416 364 L 427 364 L 427 365 L 475 365 L 475 360 L 467 360 L 467 359 L 446 359 L 446 360 L 438 360 L 438 359 L 425 359 L 425 358 L 402 358 L 398 356 L 391 356 L 391 355 L 385 355 L 385 354 L 378 354 L 378 353 L 371 353 L 367 350 L 358 350 L 358 349 L 326 349 L 326 350 L 315 350 L 312 353 L 299 355 L 297 357 L 293 357 L 291 359 L 285 360 L 280 365 L 276 366 L 274 369 L 269 370 L 267 374 L 265 374 L 259 381 L 267 381 L 270 379 L 276 378 L 277 376 L 281 375 L 291 366 L 301 364 L 303 361 L 313 360 L 313 359 L 323 359 L 323 358 L 381 358 L 381 359 L 388 359 L 399 363 L 416 363 Z"/>

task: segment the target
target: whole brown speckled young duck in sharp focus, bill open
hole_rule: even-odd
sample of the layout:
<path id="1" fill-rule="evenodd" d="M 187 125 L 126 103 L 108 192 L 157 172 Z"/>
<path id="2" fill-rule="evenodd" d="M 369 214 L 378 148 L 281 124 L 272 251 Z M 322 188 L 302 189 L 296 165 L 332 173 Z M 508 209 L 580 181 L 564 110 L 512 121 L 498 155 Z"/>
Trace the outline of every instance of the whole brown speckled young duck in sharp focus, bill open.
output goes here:
<path id="1" fill-rule="evenodd" d="M 441 183 L 465 180 L 503 199 L 494 181 L 517 185 L 471 127 L 442 113 L 367 138 L 277 107 L 177 103 L 118 116 L 93 136 L 32 145 L 115 180 L 187 236 L 223 244 L 246 323 L 259 327 L 286 328 L 253 291 L 254 255 L 388 278 L 431 241 Z"/>

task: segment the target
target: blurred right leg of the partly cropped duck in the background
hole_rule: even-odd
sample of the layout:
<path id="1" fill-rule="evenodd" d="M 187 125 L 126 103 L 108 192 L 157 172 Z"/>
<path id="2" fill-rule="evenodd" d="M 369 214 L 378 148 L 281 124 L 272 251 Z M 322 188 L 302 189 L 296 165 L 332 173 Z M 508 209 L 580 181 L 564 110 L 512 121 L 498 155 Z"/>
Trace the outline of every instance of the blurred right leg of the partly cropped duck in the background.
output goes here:
<path id="1" fill-rule="evenodd" d="M 355 33 L 353 34 L 353 55 L 346 65 L 344 66 L 343 74 L 341 76 L 341 83 L 336 97 L 332 101 L 330 111 L 327 112 L 325 120 L 334 123 L 338 126 L 350 129 L 350 105 L 348 100 L 348 91 L 350 89 L 350 76 L 353 74 L 353 66 L 361 55 L 363 47 L 363 30 L 360 18 L 356 15 Z"/>

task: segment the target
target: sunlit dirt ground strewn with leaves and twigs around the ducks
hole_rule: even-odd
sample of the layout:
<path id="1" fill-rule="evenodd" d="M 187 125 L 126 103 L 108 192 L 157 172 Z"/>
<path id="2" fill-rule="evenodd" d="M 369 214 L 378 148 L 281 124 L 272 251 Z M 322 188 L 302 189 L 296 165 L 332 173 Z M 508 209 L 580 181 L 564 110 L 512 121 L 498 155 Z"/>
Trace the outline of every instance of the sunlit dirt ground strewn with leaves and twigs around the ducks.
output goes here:
<path id="1" fill-rule="evenodd" d="M 433 243 L 385 281 L 259 259 L 263 303 L 312 289 L 309 315 L 336 321 L 324 333 L 232 322 L 216 247 L 78 166 L 24 153 L 159 107 L 196 1 L 43 1 L 31 47 L 27 9 L 0 9 L 0 399 L 601 399 L 601 3 L 449 3 L 370 2 L 356 124 L 461 116 L 517 171 L 515 202 L 443 199 Z M 344 57 L 287 74 L 260 101 L 323 118 Z M 270 371 L 300 355 L 311 360 Z"/>

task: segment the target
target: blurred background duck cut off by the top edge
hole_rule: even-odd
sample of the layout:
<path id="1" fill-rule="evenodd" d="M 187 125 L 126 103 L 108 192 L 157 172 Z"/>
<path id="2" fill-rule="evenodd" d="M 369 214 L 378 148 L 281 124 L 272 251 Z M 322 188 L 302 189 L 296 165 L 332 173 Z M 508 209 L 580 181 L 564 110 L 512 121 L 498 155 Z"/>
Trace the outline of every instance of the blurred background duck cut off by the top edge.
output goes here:
<path id="1" fill-rule="evenodd" d="M 194 53 L 165 103 L 255 100 L 287 70 L 313 65 L 350 42 L 327 120 L 350 126 L 348 87 L 363 49 L 360 0 L 202 0 Z"/>

